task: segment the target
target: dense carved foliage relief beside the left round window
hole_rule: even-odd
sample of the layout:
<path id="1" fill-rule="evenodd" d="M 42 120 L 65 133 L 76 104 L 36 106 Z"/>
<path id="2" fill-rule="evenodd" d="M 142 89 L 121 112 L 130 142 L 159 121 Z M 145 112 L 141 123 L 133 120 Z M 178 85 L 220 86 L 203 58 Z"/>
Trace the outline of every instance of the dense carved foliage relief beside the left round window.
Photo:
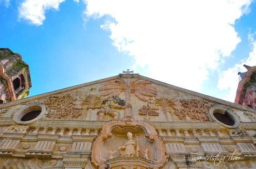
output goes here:
<path id="1" fill-rule="evenodd" d="M 51 110 L 47 115 L 51 119 L 72 119 L 82 115 L 82 107 L 70 94 L 51 96 L 45 100 L 45 104 Z"/>

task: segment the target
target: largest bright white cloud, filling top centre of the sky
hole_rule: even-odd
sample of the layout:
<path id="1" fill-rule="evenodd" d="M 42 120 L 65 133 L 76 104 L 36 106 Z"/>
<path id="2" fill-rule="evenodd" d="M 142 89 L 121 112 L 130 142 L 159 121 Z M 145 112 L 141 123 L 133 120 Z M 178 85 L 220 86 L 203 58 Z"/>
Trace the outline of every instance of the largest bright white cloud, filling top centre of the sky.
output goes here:
<path id="1" fill-rule="evenodd" d="M 109 16 L 120 52 L 147 65 L 152 78 L 200 90 L 209 70 L 228 57 L 240 42 L 234 24 L 251 1 L 84 0 L 87 17 Z"/>

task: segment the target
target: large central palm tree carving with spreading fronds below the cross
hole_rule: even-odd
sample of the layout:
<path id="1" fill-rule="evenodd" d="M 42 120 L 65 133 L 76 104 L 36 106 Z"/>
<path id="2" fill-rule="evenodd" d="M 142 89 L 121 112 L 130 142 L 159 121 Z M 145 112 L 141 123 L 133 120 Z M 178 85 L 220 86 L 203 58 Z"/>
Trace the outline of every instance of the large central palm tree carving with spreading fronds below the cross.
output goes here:
<path id="1" fill-rule="evenodd" d="M 116 79 L 105 83 L 99 91 L 102 91 L 101 96 L 118 96 L 120 93 L 125 93 L 125 117 L 131 116 L 130 94 L 133 93 L 142 101 L 147 101 L 148 98 L 156 96 L 156 88 L 149 81 L 141 79 Z"/>

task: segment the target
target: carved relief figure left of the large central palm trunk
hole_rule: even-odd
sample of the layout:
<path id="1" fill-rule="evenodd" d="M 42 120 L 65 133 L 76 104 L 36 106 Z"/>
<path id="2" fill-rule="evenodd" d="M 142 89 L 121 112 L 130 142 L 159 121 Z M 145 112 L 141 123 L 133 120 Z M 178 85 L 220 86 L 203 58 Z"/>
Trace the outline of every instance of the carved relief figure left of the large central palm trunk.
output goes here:
<path id="1" fill-rule="evenodd" d="M 112 96 L 111 99 L 102 101 L 100 110 L 97 111 L 99 120 L 104 119 L 104 115 L 114 117 L 114 120 L 118 120 L 118 113 L 114 109 L 125 109 L 125 101 L 117 96 Z"/>

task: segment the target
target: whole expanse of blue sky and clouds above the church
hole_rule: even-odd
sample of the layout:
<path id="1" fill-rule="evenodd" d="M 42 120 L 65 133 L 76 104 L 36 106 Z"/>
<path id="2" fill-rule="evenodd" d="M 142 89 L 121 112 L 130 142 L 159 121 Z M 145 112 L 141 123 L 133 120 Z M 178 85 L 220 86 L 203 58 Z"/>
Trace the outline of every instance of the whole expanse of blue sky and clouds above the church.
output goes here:
<path id="1" fill-rule="evenodd" d="M 29 65 L 29 96 L 132 69 L 229 101 L 256 65 L 254 1 L 0 0 L 0 47 Z"/>

